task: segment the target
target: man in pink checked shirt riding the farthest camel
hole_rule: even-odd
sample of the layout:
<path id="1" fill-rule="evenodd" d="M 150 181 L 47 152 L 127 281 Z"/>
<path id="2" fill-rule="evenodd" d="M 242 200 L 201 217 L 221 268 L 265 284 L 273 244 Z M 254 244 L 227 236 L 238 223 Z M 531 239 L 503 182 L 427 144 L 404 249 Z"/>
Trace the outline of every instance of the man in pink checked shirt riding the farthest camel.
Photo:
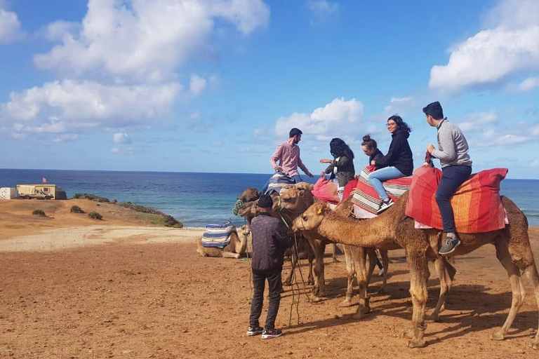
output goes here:
<path id="1" fill-rule="evenodd" d="M 300 147 L 298 143 L 301 141 L 302 132 L 298 128 L 293 128 L 288 134 L 288 141 L 282 142 L 277 146 L 270 163 L 274 170 L 284 173 L 289 177 L 292 177 L 295 183 L 302 182 L 300 172 L 298 172 L 298 166 L 301 168 L 305 175 L 314 177 L 307 167 L 303 164 L 300 158 Z M 277 164 L 279 161 L 279 164 Z"/>

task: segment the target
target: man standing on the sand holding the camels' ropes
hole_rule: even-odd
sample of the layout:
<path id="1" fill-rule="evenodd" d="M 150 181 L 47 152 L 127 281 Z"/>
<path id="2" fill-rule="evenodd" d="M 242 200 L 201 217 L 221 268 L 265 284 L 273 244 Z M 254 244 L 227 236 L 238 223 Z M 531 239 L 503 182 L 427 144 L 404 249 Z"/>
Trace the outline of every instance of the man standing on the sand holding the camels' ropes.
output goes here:
<path id="1" fill-rule="evenodd" d="M 269 195 L 262 195 L 258 200 L 258 216 L 251 222 L 253 236 L 253 299 L 249 318 L 248 336 L 262 334 L 262 339 L 281 337 L 283 332 L 275 329 L 275 318 L 281 302 L 281 271 L 283 270 L 284 251 L 292 247 L 292 239 L 286 234 L 284 224 L 272 217 L 273 200 Z M 270 303 L 267 309 L 265 327 L 260 327 L 258 318 L 262 313 L 264 286 L 267 280 Z"/>

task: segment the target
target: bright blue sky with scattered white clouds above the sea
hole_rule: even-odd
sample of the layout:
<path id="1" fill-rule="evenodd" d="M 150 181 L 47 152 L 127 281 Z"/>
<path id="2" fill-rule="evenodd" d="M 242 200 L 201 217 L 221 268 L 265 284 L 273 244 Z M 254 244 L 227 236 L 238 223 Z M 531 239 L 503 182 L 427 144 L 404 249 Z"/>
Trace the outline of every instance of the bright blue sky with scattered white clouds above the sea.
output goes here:
<path id="1" fill-rule="evenodd" d="M 0 0 L 0 168 L 270 173 L 299 127 L 415 165 L 439 100 L 474 171 L 539 177 L 539 2 Z"/>

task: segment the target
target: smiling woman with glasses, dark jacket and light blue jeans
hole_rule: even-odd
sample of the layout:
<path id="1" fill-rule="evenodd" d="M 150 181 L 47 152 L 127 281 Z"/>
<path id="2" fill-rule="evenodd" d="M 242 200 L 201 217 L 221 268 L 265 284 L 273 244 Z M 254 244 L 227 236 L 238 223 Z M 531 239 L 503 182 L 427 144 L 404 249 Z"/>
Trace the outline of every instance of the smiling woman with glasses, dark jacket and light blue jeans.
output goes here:
<path id="1" fill-rule="evenodd" d="M 378 213 L 387 210 L 394 204 L 393 200 L 387 196 L 382 182 L 410 176 L 413 172 L 412 150 L 408 144 L 411 128 L 398 115 L 387 118 L 386 126 L 392 137 L 390 149 L 382 158 L 371 161 L 371 165 L 375 165 L 376 170 L 368 175 L 368 182 L 378 192 L 378 196 L 382 200 Z"/>

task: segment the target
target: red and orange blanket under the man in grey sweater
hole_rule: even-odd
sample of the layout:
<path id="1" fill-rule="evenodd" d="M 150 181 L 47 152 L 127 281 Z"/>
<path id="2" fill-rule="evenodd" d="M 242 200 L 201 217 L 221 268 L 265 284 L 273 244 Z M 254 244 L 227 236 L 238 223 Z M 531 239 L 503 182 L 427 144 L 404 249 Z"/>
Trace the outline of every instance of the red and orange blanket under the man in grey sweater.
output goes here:
<path id="1" fill-rule="evenodd" d="M 507 168 L 493 168 L 472 175 L 451 198 L 455 228 L 461 233 L 482 233 L 505 227 L 500 200 L 500 182 Z M 440 182 L 441 170 L 422 167 L 413 173 L 406 215 L 417 222 L 442 229 L 441 215 L 434 196 Z"/>

